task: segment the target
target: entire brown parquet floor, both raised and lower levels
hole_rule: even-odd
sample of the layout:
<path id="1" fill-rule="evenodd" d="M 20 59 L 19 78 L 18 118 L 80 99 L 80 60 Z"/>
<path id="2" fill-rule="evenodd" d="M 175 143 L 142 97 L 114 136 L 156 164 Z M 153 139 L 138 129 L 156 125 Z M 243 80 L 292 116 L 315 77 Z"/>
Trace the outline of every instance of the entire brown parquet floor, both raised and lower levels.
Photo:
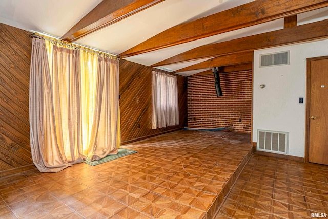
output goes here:
<path id="1" fill-rule="evenodd" d="M 59 173 L 34 170 L 0 178 L 0 218 L 310 218 L 312 212 L 328 213 L 327 166 L 251 157 L 248 134 L 181 130 L 124 147 L 138 153 Z"/>

